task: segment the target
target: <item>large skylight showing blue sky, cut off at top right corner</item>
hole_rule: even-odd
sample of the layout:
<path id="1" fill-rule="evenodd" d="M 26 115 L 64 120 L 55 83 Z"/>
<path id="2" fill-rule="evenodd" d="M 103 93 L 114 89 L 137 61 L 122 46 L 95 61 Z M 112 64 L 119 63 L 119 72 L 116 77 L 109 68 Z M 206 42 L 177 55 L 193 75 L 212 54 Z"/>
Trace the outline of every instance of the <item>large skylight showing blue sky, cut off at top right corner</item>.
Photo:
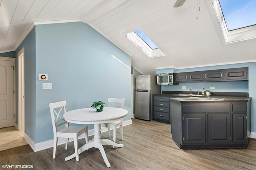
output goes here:
<path id="1" fill-rule="evenodd" d="M 255 0 L 212 1 L 226 43 L 256 38 Z"/>

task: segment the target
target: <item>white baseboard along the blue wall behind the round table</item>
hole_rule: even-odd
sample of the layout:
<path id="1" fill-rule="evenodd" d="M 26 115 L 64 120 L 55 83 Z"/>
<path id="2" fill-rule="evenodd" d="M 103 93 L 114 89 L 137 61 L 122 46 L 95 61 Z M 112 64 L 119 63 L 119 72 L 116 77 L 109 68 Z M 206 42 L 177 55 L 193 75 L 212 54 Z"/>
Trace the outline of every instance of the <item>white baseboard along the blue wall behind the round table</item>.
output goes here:
<path id="1" fill-rule="evenodd" d="M 130 125 L 130 124 L 132 124 L 132 120 L 123 121 L 123 126 Z M 106 131 L 108 131 L 108 128 L 106 127 L 101 128 L 101 132 L 106 132 Z M 89 130 L 88 136 L 93 136 L 93 135 L 94 135 L 94 129 Z M 78 139 L 82 139 L 82 138 L 84 138 L 84 135 L 81 135 Z M 24 132 L 24 139 L 27 141 L 28 145 L 30 145 L 30 147 L 34 150 L 34 152 L 53 147 L 53 139 L 50 141 L 35 143 L 25 132 Z M 72 142 L 73 139 L 70 139 L 69 141 Z M 62 145 L 65 142 L 66 142 L 65 138 L 58 139 L 58 145 Z"/>

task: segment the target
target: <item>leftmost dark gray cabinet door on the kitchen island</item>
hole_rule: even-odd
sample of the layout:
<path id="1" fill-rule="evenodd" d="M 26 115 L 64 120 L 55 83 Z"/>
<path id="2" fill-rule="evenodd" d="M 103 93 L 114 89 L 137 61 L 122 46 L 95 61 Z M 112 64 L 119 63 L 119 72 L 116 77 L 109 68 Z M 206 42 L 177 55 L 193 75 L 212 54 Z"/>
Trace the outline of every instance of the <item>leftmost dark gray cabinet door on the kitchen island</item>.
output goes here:
<path id="1" fill-rule="evenodd" d="M 184 114 L 183 119 L 183 143 L 205 143 L 205 114 Z"/>

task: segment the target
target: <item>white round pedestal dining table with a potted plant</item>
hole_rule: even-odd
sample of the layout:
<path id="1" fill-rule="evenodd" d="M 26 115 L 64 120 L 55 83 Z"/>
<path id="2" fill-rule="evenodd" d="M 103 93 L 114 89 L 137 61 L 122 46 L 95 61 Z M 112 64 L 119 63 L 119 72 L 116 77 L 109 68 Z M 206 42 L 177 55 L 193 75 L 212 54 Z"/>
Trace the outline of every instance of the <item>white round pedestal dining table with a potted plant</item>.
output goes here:
<path id="1" fill-rule="evenodd" d="M 126 109 L 118 107 L 104 107 L 103 111 L 96 111 L 96 109 L 83 108 L 67 111 L 64 113 L 63 117 L 67 122 L 76 123 L 76 124 L 94 124 L 94 138 L 88 143 L 84 144 L 78 149 L 78 154 L 88 150 L 90 148 L 98 148 L 100 153 L 106 163 L 106 166 L 109 168 L 110 163 L 106 156 L 103 145 L 112 145 L 115 147 L 124 147 L 123 144 L 114 143 L 110 139 L 101 139 L 100 135 L 100 123 L 108 123 L 111 121 L 121 120 L 128 114 Z M 76 157 L 75 153 L 67 156 L 65 160 L 70 160 Z"/>

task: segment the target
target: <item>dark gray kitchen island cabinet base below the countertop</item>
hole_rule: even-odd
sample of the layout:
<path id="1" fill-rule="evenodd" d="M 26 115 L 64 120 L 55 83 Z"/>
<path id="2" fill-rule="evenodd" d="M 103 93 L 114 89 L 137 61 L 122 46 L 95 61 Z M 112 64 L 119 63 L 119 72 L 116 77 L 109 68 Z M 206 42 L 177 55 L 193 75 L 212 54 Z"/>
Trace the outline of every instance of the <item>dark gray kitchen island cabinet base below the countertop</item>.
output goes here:
<path id="1" fill-rule="evenodd" d="M 182 149 L 245 147 L 247 102 L 171 101 L 172 140 Z"/>

